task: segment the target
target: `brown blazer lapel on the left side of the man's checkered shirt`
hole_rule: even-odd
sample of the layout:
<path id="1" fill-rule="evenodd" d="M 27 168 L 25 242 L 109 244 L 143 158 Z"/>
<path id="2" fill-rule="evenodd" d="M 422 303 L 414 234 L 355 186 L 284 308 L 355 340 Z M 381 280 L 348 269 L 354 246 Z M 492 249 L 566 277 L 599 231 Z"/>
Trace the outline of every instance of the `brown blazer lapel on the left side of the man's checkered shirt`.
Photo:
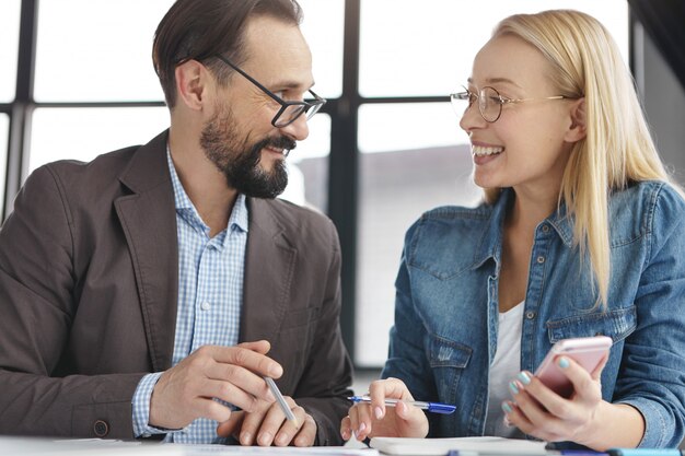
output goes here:
<path id="1" fill-rule="evenodd" d="M 167 132 L 141 147 L 120 180 L 115 208 L 131 254 L 153 372 L 171 367 L 178 300 L 178 241 L 166 163 Z"/>

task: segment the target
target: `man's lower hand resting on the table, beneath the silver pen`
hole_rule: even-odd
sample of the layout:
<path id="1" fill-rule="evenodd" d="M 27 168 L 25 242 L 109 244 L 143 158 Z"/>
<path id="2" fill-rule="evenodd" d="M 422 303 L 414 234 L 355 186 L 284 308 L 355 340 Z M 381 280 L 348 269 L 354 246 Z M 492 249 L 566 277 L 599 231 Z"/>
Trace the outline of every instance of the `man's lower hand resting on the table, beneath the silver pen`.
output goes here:
<path id="1" fill-rule="evenodd" d="M 286 419 L 278 404 L 259 401 L 251 412 L 233 412 L 228 421 L 219 424 L 217 434 L 222 437 L 235 435 L 241 445 L 312 446 L 316 439 L 316 422 L 291 397 L 283 398 L 298 419 L 297 426 Z"/>

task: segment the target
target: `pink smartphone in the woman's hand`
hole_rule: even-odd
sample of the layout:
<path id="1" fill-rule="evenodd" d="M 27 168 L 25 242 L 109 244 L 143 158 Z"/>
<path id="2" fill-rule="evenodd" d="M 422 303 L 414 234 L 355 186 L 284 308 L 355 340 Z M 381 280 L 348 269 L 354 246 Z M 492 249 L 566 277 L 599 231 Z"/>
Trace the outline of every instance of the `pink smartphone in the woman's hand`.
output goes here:
<path id="1" fill-rule="evenodd" d="M 535 376 L 559 396 L 570 397 L 573 394 L 573 385 L 561 372 L 561 367 L 556 361 L 557 356 L 571 358 L 585 371 L 592 372 L 608 353 L 611 347 L 612 338 L 606 336 L 559 340 L 552 347 L 552 350 L 537 367 Z"/>

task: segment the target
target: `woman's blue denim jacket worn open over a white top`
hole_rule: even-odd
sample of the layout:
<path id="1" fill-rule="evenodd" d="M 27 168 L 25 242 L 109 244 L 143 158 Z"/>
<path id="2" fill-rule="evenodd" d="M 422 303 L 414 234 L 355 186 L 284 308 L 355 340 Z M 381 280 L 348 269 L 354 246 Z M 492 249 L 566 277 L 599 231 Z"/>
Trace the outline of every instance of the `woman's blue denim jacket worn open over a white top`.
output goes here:
<path id="1" fill-rule="evenodd" d="M 406 234 L 382 376 L 403 379 L 417 400 L 457 406 L 453 414 L 429 413 L 430 436 L 484 433 L 502 226 L 513 197 L 504 190 L 495 204 L 434 209 Z M 635 184 L 611 197 L 609 218 L 606 312 L 595 307 L 589 259 L 573 245 L 565 207 L 537 225 L 521 367 L 534 372 L 557 340 L 609 336 L 603 398 L 642 413 L 640 446 L 676 446 L 685 433 L 685 202 L 667 184 Z"/>

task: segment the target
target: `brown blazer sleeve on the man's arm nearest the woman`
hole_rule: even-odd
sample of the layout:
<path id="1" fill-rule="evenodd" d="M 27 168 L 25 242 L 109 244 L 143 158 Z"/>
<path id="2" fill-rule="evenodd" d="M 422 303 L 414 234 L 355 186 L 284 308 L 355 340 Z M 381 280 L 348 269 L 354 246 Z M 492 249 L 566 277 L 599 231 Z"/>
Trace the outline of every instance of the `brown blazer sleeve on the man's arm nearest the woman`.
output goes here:
<path id="1" fill-rule="evenodd" d="M 293 397 L 316 421 L 317 445 L 342 445 L 340 421 L 351 406 L 347 397 L 352 394 L 352 366 L 340 332 L 340 246 L 330 221 L 328 230 L 333 255 L 325 278 L 322 316 Z"/>

